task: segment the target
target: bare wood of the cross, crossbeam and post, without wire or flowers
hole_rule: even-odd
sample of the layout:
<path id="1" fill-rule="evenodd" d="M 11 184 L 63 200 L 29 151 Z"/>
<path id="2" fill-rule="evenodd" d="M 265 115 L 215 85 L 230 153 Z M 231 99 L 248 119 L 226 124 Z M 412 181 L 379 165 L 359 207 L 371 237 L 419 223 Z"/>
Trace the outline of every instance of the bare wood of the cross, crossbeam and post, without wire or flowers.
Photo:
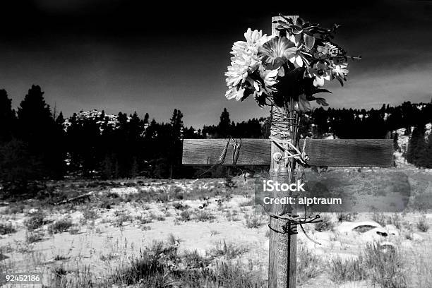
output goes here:
<path id="1" fill-rule="evenodd" d="M 296 17 L 296 16 L 294 16 Z M 278 20 L 273 17 L 272 22 Z M 275 25 L 272 34 L 276 35 Z M 216 164 L 227 145 L 227 139 L 184 139 L 183 164 Z M 299 147 L 303 148 L 304 140 Z M 393 143 L 391 139 L 307 139 L 305 146 L 309 166 L 328 167 L 392 167 Z M 272 157 L 283 152 L 269 139 L 242 139 L 237 165 L 269 165 L 270 172 L 280 164 Z M 227 150 L 223 164 L 232 164 L 232 149 Z M 271 173 L 270 173 L 271 174 Z M 277 181 L 290 183 L 287 176 L 272 176 Z M 295 212 L 295 211 L 292 211 Z M 277 227 L 270 218 L 270 226 Z M 269 247 L 269 288 L 296 287 L 296 234 L 278 234 L 270 229 Z"/>

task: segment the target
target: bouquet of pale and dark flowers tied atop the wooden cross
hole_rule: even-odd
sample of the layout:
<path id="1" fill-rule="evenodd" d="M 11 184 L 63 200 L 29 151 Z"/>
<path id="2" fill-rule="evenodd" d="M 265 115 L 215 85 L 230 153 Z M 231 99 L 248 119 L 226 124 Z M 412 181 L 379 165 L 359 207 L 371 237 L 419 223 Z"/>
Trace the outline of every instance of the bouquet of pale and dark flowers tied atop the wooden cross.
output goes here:
<path id="1" fill-rule="evenodd" d="M 347 61 L 360 59 L 347 56 L 332 42 L 339 27 L 321 28 L 298 17 L 282 16 L 274 22 L 279 36 L 263 35 L 250 28 L 246 41 L 232 47 L 231 66 L 225 73 L 230 100 L 245 100 L 253 95 L 260 107 L 294 105 L 298 113 L 311 110 L 310 101 L 327 106 L 322 97 L 325 80 L 336 79 L 343 86 L 347 80 Z M 331 93 L 331 92 L 330 92 Z"/>

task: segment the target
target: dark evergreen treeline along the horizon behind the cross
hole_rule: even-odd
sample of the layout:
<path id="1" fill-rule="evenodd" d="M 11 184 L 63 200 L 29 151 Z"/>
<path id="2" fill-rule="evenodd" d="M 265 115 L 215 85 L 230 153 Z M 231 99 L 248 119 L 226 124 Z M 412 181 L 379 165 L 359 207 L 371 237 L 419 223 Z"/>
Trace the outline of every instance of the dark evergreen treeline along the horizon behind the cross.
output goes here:
<path id="1" fill-rule="evenodd" d="M 268 138 L 270 131 L 268 119 L 234 123 L 227 109 L 219 124 L 198 130 L 184 127 L 183 117 L 174 109 L 169 122 L 158 123 L 149 114 L 108 115 L 94 110 L 65 119 L 45 102 L 40 86 L 32 85 L 17 110 L 7 92 L 0 90 L 0 181 L 3 187 L 25 190 L 35 181 L 64 176 L 198 176 L 203 169 L 181 167 L 184 138 Z M 386 138 L 398 128 L 409 133 L 416 127 L 407 159 L 431 167 L 430 160 L 424 160 L 432 154 L 431 139 L 424 139 L 424 126 L 431 122 L 431 103 L 404 102 L 370 110 L 320 107 L 302 117 L 300 131 L 311 138 Z M 220 172 L 215 169 L 210 176 Z"/>

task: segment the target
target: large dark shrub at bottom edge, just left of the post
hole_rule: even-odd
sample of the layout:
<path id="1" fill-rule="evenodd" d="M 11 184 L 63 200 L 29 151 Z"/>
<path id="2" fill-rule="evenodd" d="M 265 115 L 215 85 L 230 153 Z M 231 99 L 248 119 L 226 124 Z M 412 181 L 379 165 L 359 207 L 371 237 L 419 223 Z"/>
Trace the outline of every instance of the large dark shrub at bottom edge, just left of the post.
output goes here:
<path id="1" fill-rule="evenodd" d="M 176 245 L 154 242 L 138 258 L 131 259 L 129 265 L 118 268 L 112 282 L 123 286 L 139 284 L 138 287 L 266 287 L 258 273 L 246 272 L 239 264 L 222 262 L 212 268 L 206 265 L 208 259 L 196 251 L 179 256 Z"/>

